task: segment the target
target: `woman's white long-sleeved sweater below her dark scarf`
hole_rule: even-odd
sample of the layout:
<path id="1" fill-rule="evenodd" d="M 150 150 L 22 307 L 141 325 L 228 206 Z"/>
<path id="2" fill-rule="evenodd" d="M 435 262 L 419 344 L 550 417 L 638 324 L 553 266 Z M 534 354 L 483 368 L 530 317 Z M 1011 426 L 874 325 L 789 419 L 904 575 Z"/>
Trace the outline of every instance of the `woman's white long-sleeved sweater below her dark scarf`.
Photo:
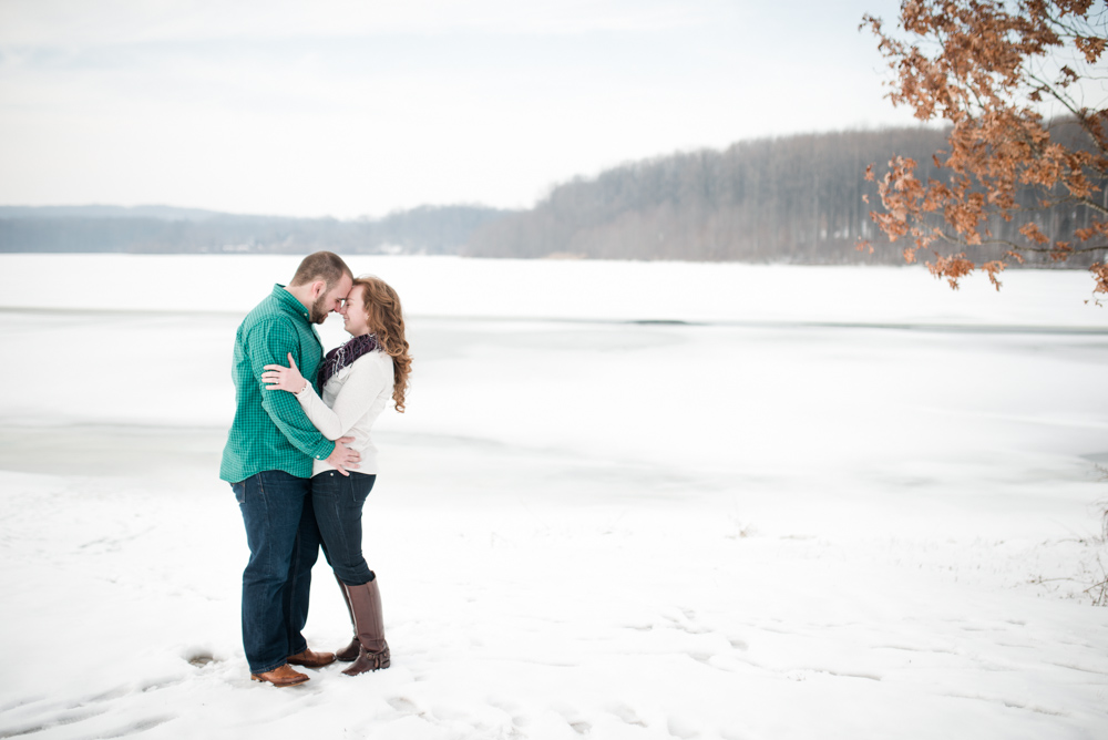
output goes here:
<path id="1" fill-rule="evenodd" d="M 392 358 L 383 350 L 362 354 L 327 380 L 320 399 L 311 383 L 296 397 L 311 423 L 329 440 L 352 436 L 347 446 L 361 453 L 356 473 L 377 474 L 377 448 L 369 430 L 392 398 Z M 316 460 L 311 474 L 335 470 Z"/>

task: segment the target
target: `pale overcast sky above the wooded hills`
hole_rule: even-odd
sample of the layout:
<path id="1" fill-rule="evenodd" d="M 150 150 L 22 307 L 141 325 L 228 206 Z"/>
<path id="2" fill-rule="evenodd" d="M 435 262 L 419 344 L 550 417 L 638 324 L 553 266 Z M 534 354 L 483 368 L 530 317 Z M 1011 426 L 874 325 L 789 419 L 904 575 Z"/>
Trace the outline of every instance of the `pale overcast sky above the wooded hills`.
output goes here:
<path id="1" fill-rule="evenodd" d="M 911 124 L 894 0 L 0 0 L 0 204 L 380 216 Z"/>

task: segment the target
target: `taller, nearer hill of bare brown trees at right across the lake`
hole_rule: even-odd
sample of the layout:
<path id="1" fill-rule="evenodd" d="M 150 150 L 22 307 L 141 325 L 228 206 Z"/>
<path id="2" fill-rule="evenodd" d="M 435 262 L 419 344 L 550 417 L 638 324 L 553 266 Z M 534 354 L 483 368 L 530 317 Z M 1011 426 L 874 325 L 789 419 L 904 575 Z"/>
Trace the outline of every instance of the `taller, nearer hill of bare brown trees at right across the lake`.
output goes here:
<path id="1" fill-rule="evenodd" d="M 483 225 L 463 254 L 900 264 L 901 243 L 890 245 L 870 219 L 879 201 L 875 183 L 863 178 L 865 167 L 875 163 L 881 173 L 900 154 L 919 163 L 921 179 L 940 177 L 932 154 L 945 141 L 946 132 L 933 129 L 849 131 L 634 162 L 560 185 L 531 210 Z M 1029 209 L 1036 205 L 1030 194 L 1023 201 Z M 1038 218 L 1055 238 L 1083 226 L 1057 212 Z M 1023 223 L 996 219 L 989 227 L 1007 238 Z M 872 255 L 855 249 L 859 237 L 873 243 Z"/>

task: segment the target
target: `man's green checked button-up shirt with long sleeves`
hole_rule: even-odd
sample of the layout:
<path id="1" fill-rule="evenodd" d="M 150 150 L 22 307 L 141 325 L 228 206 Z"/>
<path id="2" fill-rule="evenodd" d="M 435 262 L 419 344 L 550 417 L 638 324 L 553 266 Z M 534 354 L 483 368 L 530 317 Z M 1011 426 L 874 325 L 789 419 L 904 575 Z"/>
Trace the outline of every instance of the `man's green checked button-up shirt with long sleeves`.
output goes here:
<path id="1" fill-rule="evenodd" d="M 283 470 L 311 477 L 311 461 L 325 460 L 335 443 L 311 425 L 299 401 L 286 391 L 266 390 L 261 382 L 267 364 L 288 367 L 293 353 L 300 373 L 316 386 L 324 346 L 311 326 L 308 309 L 285 286 L 246 315 L 235 335 L 235 422 L 223 450 L 219 477 L 244 481 L 264 470 Z"/>

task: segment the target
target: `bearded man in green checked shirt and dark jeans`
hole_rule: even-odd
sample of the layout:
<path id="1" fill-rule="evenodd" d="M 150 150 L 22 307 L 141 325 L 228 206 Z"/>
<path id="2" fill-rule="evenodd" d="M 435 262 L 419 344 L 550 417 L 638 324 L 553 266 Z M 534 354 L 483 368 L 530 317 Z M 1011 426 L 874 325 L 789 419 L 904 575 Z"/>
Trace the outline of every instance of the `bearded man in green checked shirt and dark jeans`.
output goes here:
<path id="1" fill-rule="evenodd" d="M 287 362 L 291 353 L 315 386 L 324 349 L 312 325 L 338 311 L 352 284 L 350 268 L 338 255 L 308 255 L 288 287 L 274 286 L 235 336 L 237 409 L 219 477 L 232 484 L 250 548 L 243 572 L 243 646 L 250 678 L 275 686 L 308 680 L 293 665 L 318 668 L 335 660 L 331 652 L 309 650 L 300 634 L 319 554 L 311 462 L 326 460 L 346 475 L 360 456 L 340 444 L 352 438 L 338 443 L 324 438 L 293 393 L 267 392 L 261 373 L 266 364 Z"/>

